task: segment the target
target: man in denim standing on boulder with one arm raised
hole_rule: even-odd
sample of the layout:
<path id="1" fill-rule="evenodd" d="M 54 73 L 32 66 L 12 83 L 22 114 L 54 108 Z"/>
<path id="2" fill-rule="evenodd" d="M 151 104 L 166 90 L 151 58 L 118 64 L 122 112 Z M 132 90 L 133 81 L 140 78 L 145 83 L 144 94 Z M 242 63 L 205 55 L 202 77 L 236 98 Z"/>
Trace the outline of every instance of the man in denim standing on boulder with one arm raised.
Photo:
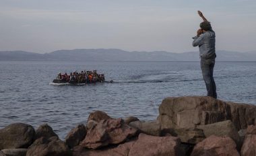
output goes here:
<path id="1" fill-rule="evenodd" d="M 207 96 L 217 98 L 216 85 L 214 82 L 214 64 L 215 64 L 215 32 L 212 30 L 210 21 L 198 11 L 199 16 L 203 19 L 200 23 L 200 29 L 197 35 L 193 37 L 193 46 L 199 46 L 199 55 L 201 58 L 201 71 L 203 80 L 207 89 Z"/>

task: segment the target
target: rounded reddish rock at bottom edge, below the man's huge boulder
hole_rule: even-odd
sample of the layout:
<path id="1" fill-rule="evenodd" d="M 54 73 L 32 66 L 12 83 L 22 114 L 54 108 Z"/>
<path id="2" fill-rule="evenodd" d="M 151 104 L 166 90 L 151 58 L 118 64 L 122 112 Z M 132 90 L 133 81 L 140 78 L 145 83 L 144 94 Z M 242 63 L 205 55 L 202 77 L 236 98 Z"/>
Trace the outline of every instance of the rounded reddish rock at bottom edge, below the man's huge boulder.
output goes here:
<path id="1" fill-rule="evenodd" d="M 236 143 L 230 137 L 207 137 L 195 145 L 191 156 L 239 156 Z"/>

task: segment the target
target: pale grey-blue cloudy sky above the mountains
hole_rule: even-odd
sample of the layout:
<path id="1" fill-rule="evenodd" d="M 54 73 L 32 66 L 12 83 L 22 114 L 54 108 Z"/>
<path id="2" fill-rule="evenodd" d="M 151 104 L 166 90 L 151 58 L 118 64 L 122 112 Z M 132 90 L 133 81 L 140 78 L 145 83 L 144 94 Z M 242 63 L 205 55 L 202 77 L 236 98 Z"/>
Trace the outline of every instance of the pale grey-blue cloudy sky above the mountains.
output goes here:
<path id="1" fill-rule="evenodd" d="M 255 0 L 0 0 L 0 51 L 197 51 L 200 10 L 217 50 L 256 52 L 255 8 Z"/>

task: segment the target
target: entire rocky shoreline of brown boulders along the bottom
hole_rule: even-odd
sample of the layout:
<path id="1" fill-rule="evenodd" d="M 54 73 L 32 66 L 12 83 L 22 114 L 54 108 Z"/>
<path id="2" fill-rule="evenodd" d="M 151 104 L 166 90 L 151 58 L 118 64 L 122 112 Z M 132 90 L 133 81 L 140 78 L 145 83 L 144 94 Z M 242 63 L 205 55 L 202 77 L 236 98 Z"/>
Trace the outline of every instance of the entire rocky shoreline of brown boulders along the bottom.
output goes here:
<path id="1" fill-rule="evenodd" d="M 0 156 L 252 156 L 256 106 L 209 96 L 165 98 L 153 121 L 92 112 L 65 141 L 53 129 L 13 123 L 0 129 Z"/>

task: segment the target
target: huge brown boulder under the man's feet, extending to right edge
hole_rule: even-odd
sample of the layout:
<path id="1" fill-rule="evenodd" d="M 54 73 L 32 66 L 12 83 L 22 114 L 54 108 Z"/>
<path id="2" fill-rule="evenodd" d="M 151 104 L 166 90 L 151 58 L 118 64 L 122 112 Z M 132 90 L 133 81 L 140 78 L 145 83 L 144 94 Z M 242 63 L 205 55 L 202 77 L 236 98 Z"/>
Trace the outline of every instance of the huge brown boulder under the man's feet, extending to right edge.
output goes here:
<path id="1" fill-rule="evenodd" d="M 210 96 L 165 98 L 159 107 L 161 129 L 190 129 L 230 120 L 237 130 L 256 121 L 256 106 L 223 102 Z"/>

